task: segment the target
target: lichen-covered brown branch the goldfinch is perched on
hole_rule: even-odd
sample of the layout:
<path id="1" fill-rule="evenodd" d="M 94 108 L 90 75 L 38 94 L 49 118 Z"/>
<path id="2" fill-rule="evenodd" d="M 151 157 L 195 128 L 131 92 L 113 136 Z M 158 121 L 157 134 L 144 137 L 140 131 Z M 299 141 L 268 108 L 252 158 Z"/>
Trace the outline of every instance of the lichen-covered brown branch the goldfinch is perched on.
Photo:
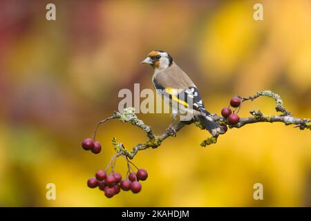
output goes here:
<path id="1" fill-rule="evenodd" d="M 240 97 L 240 96 L 238 96 Z M 295 127 L 299 127 L 301 130 L 308 128 L 311 130 L 311 121 L 310 119 L 300 119 L 298 117 L 293 117 L 290 114 L 290 111 L 288 111 L 284 106 L 283 106 L 283 101 L 279 95 L 276 93 L 272 93 L 270 90 L 263 90 L 261 92 L 256 93 L 256 95 L 252 97 L 240 97 L 242 102 L 245 101 L 253 101 L 254 99 L 258 97 L 272 97 L 274 101 L 276 102 L 276 111 L 281 112 L 281 115 L 264 115 L 261 111 L 249 111 L 251 113 L 251 117 L 241 117 L 240 121 L 238 124 L 232 125 L 229 124 L 227 119 L 224 117 L 218 116 L 218 115 L 213 115 L 212 118 L 214 121 L 218 122 L 218 124 L 227 124 L 230 128 L 241 128 L 242 126 L 245 126 L 246 124 L 254 124 L 258 122 L 283 122 L 285 125 L 290 125 L 293 124 Z M 141 128 L 145 133 L 147 133 L 148 140 L 147 142 L 144 142 L 143 144 L 137 144 L 132 148 L 131 151 L 127 151 L 126 148 L 122 143 L 118 143 L 116 138 L 113 137 L 113 147 L 115 148 L 115 151 L 117 153 L 122 152 L 123 155 L 126 157 L 129 157 L 130 159 L 133 159 L 135 155 L 138 153 L 138 151 L 145 150 L 147 148 L 158 148 L 162 144 L 162 142 L 167 139 L 170 136 L 175 135 L 180 131 L 181 128 L 183 128 L 187 124 L 194 124 L 195 126 L 198 126 L 201 129 L 206 129 L 205 126 L 203 126 L 200 122 L 196 121 L 195 119 L 192 119 L 189 122 L 178 122 L 173 128 L 167 128 L 167 130 L 160 134 L 160 135 L 155 135 L 153 131 L 151 130 L 151 127 L 144 124 L 141 119 L 138 119 L 138 117 L 135 115 L 135 109 L 134 108 L 125 108 L 122 113 L 119 112 L 114 112 L 111 117 L 108 117 L 106 119 L 103 119 L 97 124 L 100 126 L 100 124 L 106 122 L 107 120 L 110 119 L 119 119 L 120 122 L 130 122 L 134 126 L 138 126 Z M 95 139 L 95 135 L 97 132 L 97 128 L 95 130 L 95 133 L 93 135 L 93 139 Z M 217 142 L 218 135 L 215 137 L 209 137 L 206 140 L 203 140 L 200 145 L 201 146 L 207 146 L 210 144 L 215 144 Z"/>

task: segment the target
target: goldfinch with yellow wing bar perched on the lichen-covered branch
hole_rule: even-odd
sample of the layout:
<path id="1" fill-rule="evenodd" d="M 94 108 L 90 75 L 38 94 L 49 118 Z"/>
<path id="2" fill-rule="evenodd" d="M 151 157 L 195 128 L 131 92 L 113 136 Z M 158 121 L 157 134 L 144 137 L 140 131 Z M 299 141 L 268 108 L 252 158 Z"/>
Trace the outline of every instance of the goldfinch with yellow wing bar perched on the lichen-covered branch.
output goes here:
<path id="1" fill-rule="evenodd" d="M 169 100 L 173 112 L 191 113 L 207 128 L 212 136 L 223 133 L 221 127 L 211 118 L 212 115 L 205 109 L 198 88 L 190 77 L 173 61 L 171 55 L 163 50 L 153 50 L 141 64 L 149 64 L 154 72 L 152 83 L 157 93 L 164 95 Z M 165 100 L 165 99 L 164 99 Z M 178 104 L 178 105 L 176 105 Z M 176 107 L 180 109 L 176 110 Z M 173 119 L 176 115 L 173 114 Z M 170 125 L 171 126 L 171 125 Z M 176 133 L 176 131 L 175 131 Z"/>

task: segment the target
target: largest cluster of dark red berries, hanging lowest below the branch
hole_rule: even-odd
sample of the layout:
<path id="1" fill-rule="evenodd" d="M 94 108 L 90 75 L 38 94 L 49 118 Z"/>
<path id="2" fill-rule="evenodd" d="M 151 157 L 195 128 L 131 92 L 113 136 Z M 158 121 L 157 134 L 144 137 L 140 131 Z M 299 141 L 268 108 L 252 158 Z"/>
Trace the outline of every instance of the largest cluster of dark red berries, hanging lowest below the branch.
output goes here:
<path id="1" fill-rule="evenodd" d="M 113 195 L 120 193 L 120 190 L 139 193 L 142 190 L 142 184 L 139 180 L 147 180 L 148 173 L 144 169 L 139 169 L 137 173 L 129 174 L 129 179 L 122 180 L 120 173 L 113 172 L 107 175 L 106 171 L 97 171 L 95 177 L 88 179 L 88 187 L 98 188 L 104 191 L 106 198 L 112 198 Z"/>

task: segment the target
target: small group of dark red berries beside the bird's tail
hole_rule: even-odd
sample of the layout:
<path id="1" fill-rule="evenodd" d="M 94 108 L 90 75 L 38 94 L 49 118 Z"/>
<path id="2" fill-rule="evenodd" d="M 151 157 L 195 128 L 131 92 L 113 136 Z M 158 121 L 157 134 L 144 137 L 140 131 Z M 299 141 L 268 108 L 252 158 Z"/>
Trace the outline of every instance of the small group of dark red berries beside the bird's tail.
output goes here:
<path id="1" fill-rule="evenodd" d="M 241 99 L 239 97 L 232 97 L 232 99 L 230 100 L 230 106 L 232 106 L 233 108 L 239 108 L 241 106 Z M 227 119 L 227 122 L 229 124 L 238 124 L 238 122 L 240 121 L 240 117 L 238 117 L 237 113 L 232 113 L 232 110 L 228 107 L 223 108 L 223 110 L 221 110 L 221 115 L 223 115 L 223 117 L 225 117 Z M 227 126 L 225 124 L 221 125 L 221 128 L 223 128 L 223 131 L 227 131 Z"/>

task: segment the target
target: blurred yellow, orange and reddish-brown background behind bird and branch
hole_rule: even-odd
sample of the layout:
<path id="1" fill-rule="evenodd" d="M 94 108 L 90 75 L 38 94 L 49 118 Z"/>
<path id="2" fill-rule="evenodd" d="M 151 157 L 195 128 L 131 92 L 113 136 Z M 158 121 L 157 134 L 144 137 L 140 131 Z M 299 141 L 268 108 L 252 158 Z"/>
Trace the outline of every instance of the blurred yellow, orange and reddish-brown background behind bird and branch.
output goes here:
<path id="1" fill-rule="evenodd" d="M 57 20 L 46 20 L 46 4 Z M 264 21 L 254 21 L 254 3 Z M 270 89 L 296 117 L 311 117 L 311 2 L 0 1 L 1 206 L 311 206 L 310 131 L 284 124 L 229 130 L 218 143 L 187 126 L 133 160 L 149 171 L 142 192 L 107 199 L 86 180 L 114 154 L 144 142 L 138 128 L 108 122 L 99 155 L 80 143 L 117 110 L 122 88 L 153 88 L 140 65 L 168 51 L 220 114 L 234 95 Z M 271 99 L 243 104 L 275 114 Z M 161 133 L 169 114 L 138 115 Z M 117 161 L 117 171 L 126 164 Z M 46 200 L 46 184 L 56 200 Z M 264 200 L 253 199 L 263 184 Z"/>

